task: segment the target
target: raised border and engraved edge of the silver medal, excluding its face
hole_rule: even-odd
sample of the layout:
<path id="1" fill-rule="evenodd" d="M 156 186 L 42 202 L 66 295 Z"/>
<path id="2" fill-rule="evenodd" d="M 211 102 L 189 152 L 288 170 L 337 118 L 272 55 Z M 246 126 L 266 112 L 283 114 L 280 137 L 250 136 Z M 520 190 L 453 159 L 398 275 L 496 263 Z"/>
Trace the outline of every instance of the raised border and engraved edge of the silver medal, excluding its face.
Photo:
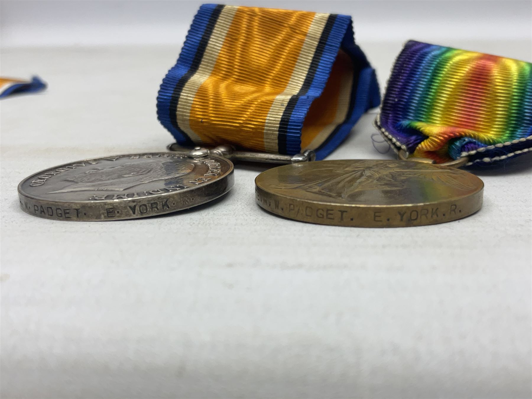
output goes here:
<path id="1" fill-rule="evenodd" d="M 65 168 L 69 165 L 75 164 L 75 163 L 88 163 L 90 161 L 103 161 L 103 160 L 110 160 L 113 158 L 122 158 L 122 157 L 131 157 L 131 156 L 147 156 L 147 155 L 172 155 L 172 156 L 178 156 L 182 157 L 183 159 L 187 159 L 187 154 L 179 154 L 176 152 L 147 152 L 147 153 L 131 153 L 131 154 L 120 154 L 120 155 L 110 155 L 110 156 L 101 156 L 101 157 L 94 157 L 84 160 L 78 160 L 68 163 L 63 163 L 61 165 L 57 165 L 51 168 L 43 169 L 39 172 L 35 172 L 30 174 L 28 177 L 24 178 L 17 187 L 17 192 L 19 195 L 19 203 L 22 211 L 36 217 L 40 217 L 43 219 L 52 219 L 52 220 L 68 220 L 68 221 L 108 221 L 108 220 L 126 220 L 126 219 L 138 219 L 138 218 L 145 218 L 145 217 L 151 217 L 155 215 L 161 215 L 161 214 L 167 214 L 172 212 L 177 212 L 180 210 L 190 209 L 194 206 L 202 205 L 207 202 L 213 201 L 216 198 L 219 198 L 229 192 L 229 190 L 234 185 L 234 165 L 231 161 L 228 159 L 225 159 L 223 157 L 217 156 L 217 155 L 207 155 L 205 157 L 201 158 L 194 158 L 190 159 L 190 161 L 201 161 L 202 159 L 209 160 L 212 159 L 214 161 L 220 162 L 222 165 L 224 165 L 227 168 L 227 171 L 222 173 L 222 176 L 217 177 L 216 179 L 204 182 L 201 185 L 198 185 L 197 187 L 186 187 L 180 190 L 175 191 L 169 191 L 167 193 L 157 193 L 152 194 L 148 196 L 143 196 L 139 198 L 115 198 L 115 199 L 105 199 L 105 200 L 99 200 L 99 201 L 92 201 L 92 200 L 61 200 L 61 198 L 44 198 L 40 195 L 30 194 L 26 191 L 24 191 L 23 185 L 26 184 L 30 179 L 34 179 L 41 174 L 46 174 L 50 171 L 55 171 L 56 169 Z M 149 159 L 149 158 L 147 158 Z M 171 160 L 172 158 L 169 158 Z M 186 176 L 186 174 L 184 175 Z M 163 179 L 160 179 L 163 180 Z M 154 180 L 155 181 L 155 180 Z M 144 184 L 144 183 L 141 183 Z M 86 190 L 87 193 L 94 192 L 95 190 Z M 110 195 L 113 193 L 113 190 L 109 190 L 107 195 Z M 102 191 L 102 193 L 106 193 L 106 191 Z M 194 193 L 194 197 L 191 196 L 191 193 Z M 144 200 L 144 201 L 143 201 Z M 175 200 L 174 203 L 168 203 L 170 200 Z M 190 201 L 188 201 L 190 200 Z M 38 205 L 39 207 L 44 207 L 46 210 L 47 208 L 52 209 L 52 215 L 48 213 L 41 213 L 41 212 L 34 212 L 34 208 L 28 208 L 28 204 L 23 203 L 22 201 L 30 201 L 32 206 Z M 140 205 L 150 203 L 155 204 L 157 202 L 161 201 L 161 204 L 164 204 L 164 206 L 161 206 L 161 210 L 159 210 L 159 206 L 156 205 L 156 209 L 154 210 L 153 207 L 151 210 L 146 211 L 144 213 L 142 212 L 135 212 L 133 214 L 128 214 L 127 212 L 123 212 L 123 210 L 127 210 L 128 204 L 131 205 L 138 205 L 140 208 Z M 179 202 L 179 203 L 178 203 Z M 76 205 L 76 206 L 74 206 Z M 70 217 L 65 217 L 64 215 L 59 216 L 57 215 L 57 212 L 54 212 L 54 209 L 62 209 L 62 207 L 66 207 L 66 209 L 75 210 L 77 211 L 77 216 L 73 217 L 73 212 L 70 214 Z M 85 208 L 87 212 L 82 212 L 81 209 Z M 113 211 L 110 211 L 113 210 Z M 116 210 L 119 211 L 119 213 L 116 213 Z M 62 212 L 61 212 L 62 213 Z M 85 213 L 85 214 L 84 214 Z M 110 216 L 111 215 L 111 216 Z"/>

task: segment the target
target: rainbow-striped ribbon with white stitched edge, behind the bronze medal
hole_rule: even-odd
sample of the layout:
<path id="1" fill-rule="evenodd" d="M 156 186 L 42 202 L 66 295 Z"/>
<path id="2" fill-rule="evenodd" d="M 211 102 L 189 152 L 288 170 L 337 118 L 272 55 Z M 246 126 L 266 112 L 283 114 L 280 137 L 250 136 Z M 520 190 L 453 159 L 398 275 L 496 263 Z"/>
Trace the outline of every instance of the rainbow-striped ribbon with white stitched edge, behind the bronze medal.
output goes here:
<path id="1" fill-rule="evenodd" d="M 532 64 L 409 41 L 376 125 L 395 148 L 438 163 L 532 151 Z"/>

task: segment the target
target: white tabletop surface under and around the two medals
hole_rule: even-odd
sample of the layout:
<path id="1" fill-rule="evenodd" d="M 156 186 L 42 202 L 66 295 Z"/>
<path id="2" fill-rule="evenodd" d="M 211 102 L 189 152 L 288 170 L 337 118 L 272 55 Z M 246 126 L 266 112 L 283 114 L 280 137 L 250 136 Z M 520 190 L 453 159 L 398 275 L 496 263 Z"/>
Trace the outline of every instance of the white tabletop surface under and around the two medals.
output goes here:
<path id="1" fill-rule="evenodd" d="M 476 170 L 483 209 L 426 227 L 276 217 L 255 204 L 254 164 L 162 217 L 19 209 L 31 173 L 172 142 L 155 96 L 181 42 L 3 49 L 2 76 L 49 88 L 1 103 L 1 396 L 530 397 L 530 156 Z M 530 39 L 439 44 L 532 59 Z M 384 85 L 401 41 L 361 45 Z M 393 158 L 374 118 L 329 159 Z"/>

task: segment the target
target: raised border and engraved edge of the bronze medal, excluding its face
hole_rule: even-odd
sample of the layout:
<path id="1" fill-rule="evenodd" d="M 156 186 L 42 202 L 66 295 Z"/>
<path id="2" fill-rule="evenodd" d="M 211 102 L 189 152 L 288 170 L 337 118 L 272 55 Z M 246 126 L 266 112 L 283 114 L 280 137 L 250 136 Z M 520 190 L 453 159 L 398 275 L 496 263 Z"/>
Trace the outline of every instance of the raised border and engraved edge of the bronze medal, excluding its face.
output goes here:
<path id="1" fill-rule="evenodd" d="M 376 163 L 381 162 L 412 162 L 412 161 L 394 161 L 394 160 L 326 160 L 326 161 L 317 161 L 312 162 L 312 164 L 301 164 L 297 165 L 297 167 L 303 167 L 303 168 L 315 168 L 319 163 L 338 163 L 343 162 L 346 165 L 353 163 L 353 162 L 360 162 L 360 161 L 371 161 Z M 471 190 L 468 194 L 462 194 L 462 195 L 456 195 L 451 198 L 442 198 L 441 200 L 434 200 L 434 201 L 423 201 L 423 202 L 415 202 L 415 203 L 402 203 L 402 204 L 371 204 L 371 203 L 353 203 L 353 202 L 332 202 L 332 201 L 320 201 L 316 200 L 315 198 L 308 198 L 305 197 L 304 190 L 302 190 L 301 195 L 294 194 L 293 192 L 290 193 L 280 193 L 280 188 L 277 187 L 275 189 L 269 188 L 269 182 L 266 182 L 265 179 L 267 179 L 269 176 L 268 174 L 272 173 L 271 171 L 273 169 L 264 171 L 259 174 L 255 178 L 255 201 L 256 203 L 261 206 L 264 210 L 267 210 L 271 213 L 277 214 L 281 217 L 293 219 L 297 221 L 302 222 L 309 222 L 309 223 L 317 223 L 321 225 L 332 225 L 332 226 L 350 226 L 350 227 L 412 227 L 412 226 L 425 226 L 425 225 L 434 225 L 437 223 L 445 223 L 448 221 L 454 221 L 459 220 L 465 217 L 468 217 L 469 215 L 476 213 L 480 210 L 482 206 L 482 200 L 483 200 L 483 192 L 484 192 L 484 182 L 479 179 L 477 176 L 475 176 L 472 173 L 450 168 L 450 167 L 442 167 L 441 165 L 437 164 L 423 164 L 425 166 L 421 168 L 435 168 L 434 173 L 437 173 L 437 169 L 447 169 L 452 171 L 460 171 L 461 173 L 464 173 L 464 176 L 471 175 L 471 180 L 475 181 L 475 184 L 477 185 L 476 189 Z M 282 167 L 278 168 L 286 168 L 287 170 L 289 168 L 294 167 L 294 165 L 284 165 Z M 278 169 L 275 168 L 275 169 Z M 286 173 L 287 175 L 289 173 Z M 276 205 L 274 205 L 277 203 Z M 274 205 L 274 206 L 272 206 Z M 294 211 L 289 211 L 287 207 L 293 207 Z M 299 206 L 297 209 L 296 206 Z M 314 208 L 315 210 L 322 210 L 326 211 L 327 209 L 335 214 L 334 218 L 326 218 L 325 216 L 316 217 L 315 214 L 310 214 L 311 212 L 307 212 L 305 214 L 303 211 L 296 212 L 295 210 L 308 210 L 309 207 L 316 207 L 321 206 L 321 208 Z M 423 218 L 416 217 L 415 220 L 406 220 L 406 218 L 401 217 L 401 220 L 397 221 L 394 220 L 394 218 L 384 218 L 383 219 L 383 212 L 386 212 L 389 214 L 390 212 L 418 212 L 418 215 L 422 210 L 427 209 L 427 207 L 436 207 L 436 210 L 438 210 L 439 207 L 439 214 L 436 218 L 428 218 L 425 217 L 425 220 L 421 220 Z M 449 206 L 451 209 L 451 212 L 453 215 L 449 212 L 446 214 L 443 214 L 442 209 L 445 206 Z M 453 208 L 453 206 L 456 206 Z M 306 207 L 306 208 L 305 208 Z M 327 207 L 327 209 L 323 208 Z M 459 213 L 456 213 L 455 210 L 459 210 Z M 320 211 L 321 212 L 321 211 Z M 342 215 L 342 218 L 338 218 L 338 213 Z M 354 217 L 351 216 L 351 214 L 355 212 L 356 215 Z M 344 218 L 344 215 L 350 214 L 349 217 Z M 437 211 L 438 213 L 438 211 Z M 456 214 L 454 214 L 456 213 Z M 325 214 L 324 214 L 325 215 Z M 443 217 L 442 217 L 443 215 Z M 405 219 L 405 220 L 403 220 Z"/>

